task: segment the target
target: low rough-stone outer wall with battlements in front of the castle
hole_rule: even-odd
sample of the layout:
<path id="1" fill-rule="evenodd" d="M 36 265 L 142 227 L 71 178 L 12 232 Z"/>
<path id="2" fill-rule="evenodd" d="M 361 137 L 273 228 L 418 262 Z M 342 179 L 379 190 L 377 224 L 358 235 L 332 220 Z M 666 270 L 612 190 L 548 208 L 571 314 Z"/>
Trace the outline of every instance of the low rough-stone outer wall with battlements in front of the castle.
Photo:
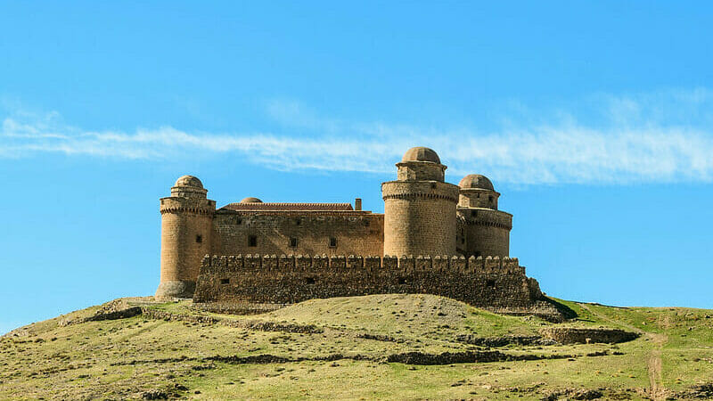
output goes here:
<path id="1" fill-rule="evenodd" d="M 206 256 L 195 302 L 295 303 L 384 293 L 428 293 L 476 307 L 532 307 L 537 281 L 517 258 Z"/>

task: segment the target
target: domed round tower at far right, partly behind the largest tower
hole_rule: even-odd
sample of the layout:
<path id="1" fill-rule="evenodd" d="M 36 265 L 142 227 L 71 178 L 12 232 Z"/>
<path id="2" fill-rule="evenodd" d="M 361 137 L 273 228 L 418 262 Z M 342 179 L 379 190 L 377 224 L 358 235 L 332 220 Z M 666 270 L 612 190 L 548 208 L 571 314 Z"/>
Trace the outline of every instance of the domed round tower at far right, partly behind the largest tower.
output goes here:
<path id="1" fill-rule="evenodd" d="M 464 176 L 458 186 L 458 217 L 463 225 L 463 239 L 458 245 L 463 255 L 509 256 L 512 215 L 497 209 L 500 193 L 493 183 L 486 176 L 471 174 Z"/>

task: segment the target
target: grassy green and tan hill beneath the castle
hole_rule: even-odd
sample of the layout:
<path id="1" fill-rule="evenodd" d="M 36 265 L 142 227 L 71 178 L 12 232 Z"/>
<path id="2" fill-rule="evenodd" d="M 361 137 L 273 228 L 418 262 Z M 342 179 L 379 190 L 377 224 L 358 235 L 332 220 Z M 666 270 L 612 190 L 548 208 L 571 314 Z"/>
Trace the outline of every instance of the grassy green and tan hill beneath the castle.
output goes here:
<path id="1" fill-rule="evenodd" d="M 244 316 L 117 299 L 1 338 L 0 398 L 713 397 L 713 311 L 560 302 L 578 317 L 494 315 L 430 295 Z M 640 337 L 553 344 L 548 327 Z"/>

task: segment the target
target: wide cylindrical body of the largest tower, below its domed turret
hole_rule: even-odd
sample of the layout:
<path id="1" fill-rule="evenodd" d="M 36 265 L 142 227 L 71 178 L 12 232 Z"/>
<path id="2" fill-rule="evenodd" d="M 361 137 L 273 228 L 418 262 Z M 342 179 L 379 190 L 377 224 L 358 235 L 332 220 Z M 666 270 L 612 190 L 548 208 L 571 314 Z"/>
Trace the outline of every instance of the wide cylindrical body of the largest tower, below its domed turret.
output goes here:
<path id="1" fill-rule="evenodd" d="M 454 255 L 458 187 L 435 181 L 389 181 L 384 200 L 383 254 Z"/>

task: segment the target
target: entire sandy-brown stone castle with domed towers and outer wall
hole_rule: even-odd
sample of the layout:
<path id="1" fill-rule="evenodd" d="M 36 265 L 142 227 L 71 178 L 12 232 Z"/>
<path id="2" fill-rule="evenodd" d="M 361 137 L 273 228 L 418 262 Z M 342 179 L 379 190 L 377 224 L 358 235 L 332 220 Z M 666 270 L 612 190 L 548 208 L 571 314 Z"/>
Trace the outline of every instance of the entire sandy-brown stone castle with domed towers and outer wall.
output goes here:
<path id="1" fill-rule="evenodd" d="M 358 198 L 353 206 L 245 198 L 216 209 L 198 178 L 178 178 L 160 200 L 156 298 L 284 304 L 415 292 L 504 313 L 542 309 L 537 281 L 509 258 L 512 215 L 497 209 L 487 177 L 449 184 L 447 167 L 424 147 L 396 166 L 397 179 L 381 184 L 383 214 L 362 210 Z"/>

